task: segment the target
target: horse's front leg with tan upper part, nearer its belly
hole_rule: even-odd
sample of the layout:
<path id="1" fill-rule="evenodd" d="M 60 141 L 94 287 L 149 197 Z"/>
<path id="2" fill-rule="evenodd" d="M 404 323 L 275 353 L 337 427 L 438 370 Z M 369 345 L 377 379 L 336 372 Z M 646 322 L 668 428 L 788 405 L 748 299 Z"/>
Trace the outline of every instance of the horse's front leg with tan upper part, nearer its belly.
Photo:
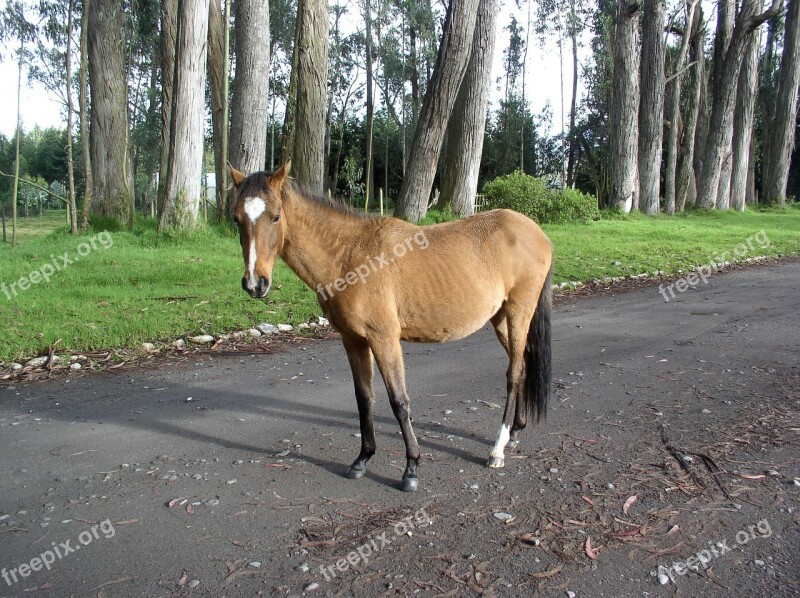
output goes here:
<path id="1" fill-rule="evenodd" d="M 411 427 L 411 405 L 406 393 L 405 370 L 403 368 L 403 349 L 398 336 L 386 335 L 378 339 L 370 339 L 370 347 L 378 362 L 378 369 L 389 393 L 389 403 L 394 416 L 400 423 L 403 442 L 406 445 L 406 470 L 403 473 L 401 488 L 405 492 L 414 492 L 419 487 L 417 464 L 419 463 L 419 444 Z"/>

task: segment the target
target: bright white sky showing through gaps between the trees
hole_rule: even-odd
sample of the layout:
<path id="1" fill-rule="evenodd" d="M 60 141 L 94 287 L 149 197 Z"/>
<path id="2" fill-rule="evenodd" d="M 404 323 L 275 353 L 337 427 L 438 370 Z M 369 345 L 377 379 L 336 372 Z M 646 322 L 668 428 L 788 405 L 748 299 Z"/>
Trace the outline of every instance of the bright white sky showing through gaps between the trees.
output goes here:
<path id="1" fill-rule="evenodd" d="M 497 107 L 497 101 L 502 96 L 501 91 L 497 90 L 496 80 L 503 74 L 503 50 L 508 44 L 508 33 L 504 27 L 508 24 L 511 10 L 515 10 L 513 3 L 511 9 L 504 9 L 500 15 L 497 26 L 497 44 L 494 52 L 494 68 L 491 79 L 492 103 Z M 517 18 L 521 23 L 527 20 L 527 16 L 519 14 Z M 8 139 L 13 137 L 16 130 L 17 118 L 17 64 L 14 60 L 13 52 L 3 52 L 3 61 L 0 62 L 0 133 Z M 531 35 L 528 50 L 528 68 L 526 75 L 526 96 L 534 114 L 538 114 L 549 101 L 553 113 L 553 130 L 551 133 L 560 131 L 561 122 L 561 98 L 560 98 L 560 63 L 558 46 L 554 38 L 548 40 L 548 44 L 542 48 L 539 40 Z M 38 125 L 41 128 L 66 126 L 66 114 L 62 109 L 58 99 L 38 83 L 29 84 L 27 73 L 23 70 L 22 79 L 21 114 L 22 126 L 26 131 Z M 569 110 L 569 99 L 572 85 L 572 61 L 569 53 L 564 55 L 564 94 L 565 110 Z M 579 94 L 581 84 L 578 83 Z M 579 95 L 580 97 L 580 95 Z M 569 113 L 565 114 L 569 117 Z"/>

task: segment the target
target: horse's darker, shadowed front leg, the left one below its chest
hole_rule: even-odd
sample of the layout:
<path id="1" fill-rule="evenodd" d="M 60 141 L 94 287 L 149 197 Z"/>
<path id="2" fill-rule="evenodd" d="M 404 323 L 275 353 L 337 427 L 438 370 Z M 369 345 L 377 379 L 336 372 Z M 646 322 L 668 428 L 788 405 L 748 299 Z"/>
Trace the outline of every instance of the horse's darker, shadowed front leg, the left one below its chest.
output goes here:
<path id="1" fill-rule="evenodd" d="M 353 461 L 345 474 L 350 479 L 357 479 L 367 471 L 367 461 L 375 454 L 375 430 L 372 427 L 372 352 L 363 339 L 342 337 L 350 369 L 353 372 L 353 384 L 358 403 L 358 419 L 361 424 L 361 452 Z"/>

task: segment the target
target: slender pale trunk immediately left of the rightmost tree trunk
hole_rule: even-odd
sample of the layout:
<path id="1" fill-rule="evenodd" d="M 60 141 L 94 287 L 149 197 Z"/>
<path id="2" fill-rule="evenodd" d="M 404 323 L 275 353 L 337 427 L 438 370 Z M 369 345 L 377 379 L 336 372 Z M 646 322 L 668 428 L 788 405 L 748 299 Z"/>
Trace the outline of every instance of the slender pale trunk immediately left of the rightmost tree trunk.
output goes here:
<path id="1" fill-rule="evenodd" d="M 760 7 L 759 7 L 760 8 Z M 730 207 L 744 211 L 747 198 L 747 179 L 750 172 L 750 148 L 753 139 L 753 113 L 758 84 L 759 35 L 747 42 L 739 88 L 736 90 L 736 107 L 733 111 L 733 164 L 731 166 Z M 752 201 L 752 198 L 751 198 Z"/>

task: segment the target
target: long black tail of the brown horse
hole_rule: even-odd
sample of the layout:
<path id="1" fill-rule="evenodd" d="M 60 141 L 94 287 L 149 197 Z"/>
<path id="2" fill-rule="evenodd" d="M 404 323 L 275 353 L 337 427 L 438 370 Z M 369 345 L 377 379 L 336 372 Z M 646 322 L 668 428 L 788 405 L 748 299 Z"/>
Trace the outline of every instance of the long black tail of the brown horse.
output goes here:
<path id="1" fill-rule="evenodd" d="M 553 266 L 544 281 L 539 303 L 531 318 L 528 342 L 525 346 L 525 393 L 523 395 L 528 419 L 541 421 L 547 415 L 550 398 L 551 347 L 550 312 L 552 305 Z"/>

